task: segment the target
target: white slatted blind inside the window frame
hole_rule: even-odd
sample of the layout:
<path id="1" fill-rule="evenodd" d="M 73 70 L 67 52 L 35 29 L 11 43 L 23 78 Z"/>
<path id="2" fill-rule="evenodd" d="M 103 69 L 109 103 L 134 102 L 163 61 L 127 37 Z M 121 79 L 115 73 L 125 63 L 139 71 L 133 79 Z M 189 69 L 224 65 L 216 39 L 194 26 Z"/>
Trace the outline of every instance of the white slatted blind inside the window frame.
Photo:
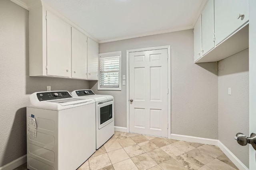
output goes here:
<path id="1" fill-rule="evenodd" d="M 100 58 L 100 87 L 119 87 L 119 56 Z"/>

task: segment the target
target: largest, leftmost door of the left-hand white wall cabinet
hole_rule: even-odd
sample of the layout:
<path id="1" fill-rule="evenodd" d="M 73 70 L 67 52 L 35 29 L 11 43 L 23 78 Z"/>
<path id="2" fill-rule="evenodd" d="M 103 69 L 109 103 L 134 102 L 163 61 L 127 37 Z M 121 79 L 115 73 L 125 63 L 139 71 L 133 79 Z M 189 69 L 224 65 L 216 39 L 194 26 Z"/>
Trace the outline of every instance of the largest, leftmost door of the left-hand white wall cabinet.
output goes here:
<path id="1" fill-rule="evenodd" d="M 47 11 L 47 75 L 70 77 L 71 26 Z"/>

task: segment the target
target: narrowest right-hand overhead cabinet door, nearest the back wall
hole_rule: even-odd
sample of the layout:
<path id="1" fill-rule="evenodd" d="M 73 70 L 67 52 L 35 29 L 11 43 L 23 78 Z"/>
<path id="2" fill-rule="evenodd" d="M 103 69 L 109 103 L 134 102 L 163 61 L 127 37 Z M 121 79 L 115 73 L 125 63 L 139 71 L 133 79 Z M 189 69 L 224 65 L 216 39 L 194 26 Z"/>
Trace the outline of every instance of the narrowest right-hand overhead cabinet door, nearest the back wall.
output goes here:
<path id="1" fill-rule="evenodd" d="M 201 15 L 196 21 L 194 27 L 194 61 L 198 60 L 201 57 L 202 49 L 202 27 L 201 27 Z"/>

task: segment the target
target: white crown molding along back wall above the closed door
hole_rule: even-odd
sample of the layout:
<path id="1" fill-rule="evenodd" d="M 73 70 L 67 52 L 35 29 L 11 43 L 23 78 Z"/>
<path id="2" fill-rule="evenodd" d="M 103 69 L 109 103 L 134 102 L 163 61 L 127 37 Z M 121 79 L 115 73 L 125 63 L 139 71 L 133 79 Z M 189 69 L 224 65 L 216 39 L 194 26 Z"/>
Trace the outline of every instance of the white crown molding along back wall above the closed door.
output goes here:
<path id="1" fill-rule="evenodd" d="M 165 29 L 165 30 L 162 30 L 162 31 L 154 31 L 154 32 L 150 32 L 150 33 L 138 34 L 138 35 L 133 35 L 133 36 L 100 40 L 99 43 L 108 43 L 108 42 L 112 42 L 112 41 L 120 41 L 120 40 L 124 40 L 124 39 L 145 37 L 145 36 L 149 36 L 149 35 L 157 35 L 157 34 L 162 34 L 162 33 L 170 33 L 170 32 L 182 31 L 182 30 L 193 29 L 193 28 L 194 28 L 193 25 L 185 26 L 185 27 L 177 27 L 177 28 Z"/>

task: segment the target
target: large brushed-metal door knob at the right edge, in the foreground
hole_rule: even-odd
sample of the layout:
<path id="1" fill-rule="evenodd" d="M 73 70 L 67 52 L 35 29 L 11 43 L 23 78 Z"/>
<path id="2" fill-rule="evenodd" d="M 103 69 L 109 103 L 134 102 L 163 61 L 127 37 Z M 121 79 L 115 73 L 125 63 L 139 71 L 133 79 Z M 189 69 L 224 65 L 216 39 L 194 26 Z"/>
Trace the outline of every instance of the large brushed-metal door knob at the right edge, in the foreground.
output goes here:
<path id="1" fill-rule="evenodd" d="M 237 133 L 234 139 L 236 139 L 239 145 L 245 146 L 247 145 L 247 143 L 249 143 L 256 150 L 256 134 L 255 133 L 252 133 L 250 137 L 246 137 L 246 135 L 242 133 Z"/>

